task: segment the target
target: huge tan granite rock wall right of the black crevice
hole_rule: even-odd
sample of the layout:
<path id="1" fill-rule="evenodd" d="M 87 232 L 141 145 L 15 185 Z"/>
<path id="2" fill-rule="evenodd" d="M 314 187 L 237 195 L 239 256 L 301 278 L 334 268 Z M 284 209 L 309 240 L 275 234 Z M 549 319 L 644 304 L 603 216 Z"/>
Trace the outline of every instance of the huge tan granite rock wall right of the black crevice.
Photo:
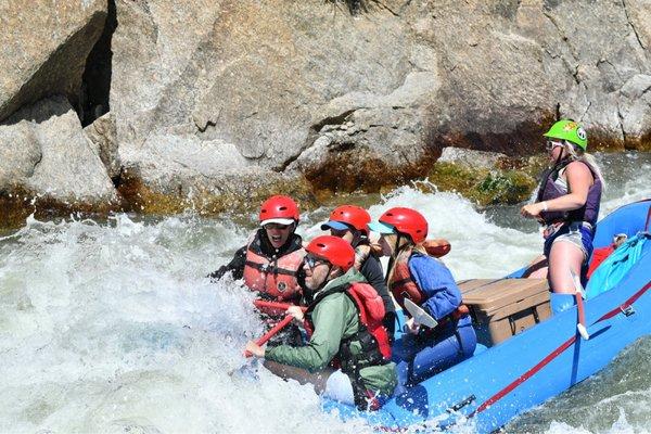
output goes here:
<path id="1" fill-rule="evenodd" d="M 242 167 L 372 190 L 448 145 L 540 151 L 557 116 L 592 143 L 649 146 L 648 102 L 630 97 L 651 67 L 647 3 L 386 0 L 353 17 L 317 0 L 117 0 L 123 163 L 164 188 L 156 174 L 177 171 L 152 137 L 217 141 Z M 214 164 L 204 183 L 221 184 L 217 159 L 194 168 Z"/>

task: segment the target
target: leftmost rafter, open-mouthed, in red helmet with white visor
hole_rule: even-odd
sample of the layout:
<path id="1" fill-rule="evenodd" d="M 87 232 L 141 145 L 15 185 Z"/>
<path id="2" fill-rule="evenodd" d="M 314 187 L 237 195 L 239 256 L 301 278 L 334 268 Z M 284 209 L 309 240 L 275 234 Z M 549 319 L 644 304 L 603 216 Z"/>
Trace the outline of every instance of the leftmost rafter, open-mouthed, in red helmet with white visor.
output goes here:
<path id="1" fill-rule="evenodd" d="M 298 304 L 297 275 L 305 256 L 303 240 L 294 233 L 298 219 L 298 205 L 291 197 L 266 200 L 260 206 L 260 228 L 229 264 L 209 275 L 210 279 L 231 272 L 233 279 L 244 279 L 246 286 L 265 298 Z"/>

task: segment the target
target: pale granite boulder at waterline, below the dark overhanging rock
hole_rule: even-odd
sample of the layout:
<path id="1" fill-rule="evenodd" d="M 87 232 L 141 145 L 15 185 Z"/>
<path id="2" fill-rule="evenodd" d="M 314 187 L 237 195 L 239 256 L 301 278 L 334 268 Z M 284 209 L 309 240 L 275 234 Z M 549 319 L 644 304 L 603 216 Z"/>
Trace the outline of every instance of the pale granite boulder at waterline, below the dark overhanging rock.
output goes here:
<path id="1" fill-rule="evenodd" d="M 0 192 L 58 203 L 115 203 L 106 169 L 65 97 L 26 106 L 0 125 Z"/>

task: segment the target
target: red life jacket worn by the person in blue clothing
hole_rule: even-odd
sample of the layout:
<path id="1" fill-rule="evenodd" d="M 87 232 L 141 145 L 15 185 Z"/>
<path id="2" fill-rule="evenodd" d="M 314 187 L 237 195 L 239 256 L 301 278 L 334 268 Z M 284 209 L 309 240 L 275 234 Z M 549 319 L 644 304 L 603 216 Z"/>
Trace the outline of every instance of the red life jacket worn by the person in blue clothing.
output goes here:
<path id="1" fill-rule="evenodd" d="M 398 254 L 398 257 L 393 265 L 393 275 L 387 283 L 391 293 L 405 312 L 407 312 L 407 309 L 405 308 L 405 298 L 409 298 L 419 306 L 426 301 L 425 293 L 418 288 L 418 284 L 411 277 L 411 271 L 409 271 L 409 258 L 411 257 L 411 252 L 412 251 L 408 248 Z M 458 320 L 469 312 L 470 309 L 468 306 L 461 303 L 450 315 L 438 319 L 438 326 L 443 326 L 449 320 Z"/>

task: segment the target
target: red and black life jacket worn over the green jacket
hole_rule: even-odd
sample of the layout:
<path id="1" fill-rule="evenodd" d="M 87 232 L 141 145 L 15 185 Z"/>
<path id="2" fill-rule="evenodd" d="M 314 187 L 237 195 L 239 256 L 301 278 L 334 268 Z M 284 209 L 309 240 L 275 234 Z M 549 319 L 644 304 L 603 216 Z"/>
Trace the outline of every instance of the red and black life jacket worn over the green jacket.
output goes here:
<path id="1" fill-rule="evenodd" d="M 346 294 L 357 308 L 359 330 L 350 337 L 341 342 L 340 350 L 335 359 L 333 359 L 333 365 L 341 367 L 344 373 L 354 374 L 356 369 L 384 365 L 390 361 L 391 344 L 388 333 L 382 323 L 385 314 L 384 301 L 378 294 L 378 291 L 368 283 L 355 282 L 347 285 L 347 288 L 343 285 L 329 289 L 322 294 L 317 294 L 316 299 L 308 306 L 305 314 L 305 330 L 308 336 L 314 331 L 311 311 L 326 296 L 335 292 Z M 349 350 L 349 346 L 354 342 L 358 342 L 361 346 L 361 354 L 355 359 Z"/>

